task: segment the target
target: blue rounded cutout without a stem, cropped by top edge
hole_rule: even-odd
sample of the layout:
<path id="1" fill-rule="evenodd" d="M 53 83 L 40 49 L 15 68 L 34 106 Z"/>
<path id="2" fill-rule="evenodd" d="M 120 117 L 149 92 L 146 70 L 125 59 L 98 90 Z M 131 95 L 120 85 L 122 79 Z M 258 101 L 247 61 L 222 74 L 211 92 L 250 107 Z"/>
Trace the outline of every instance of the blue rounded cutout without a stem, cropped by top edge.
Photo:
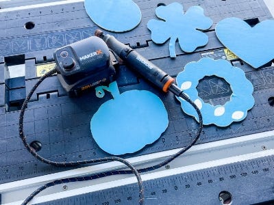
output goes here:
<path id="1" fill-rule="evenodd" d="M 130 31 L 142 18 L 140 8 L 132 0 L 85 0 L 85 9 L 96 25 L 113 32 Z"/>

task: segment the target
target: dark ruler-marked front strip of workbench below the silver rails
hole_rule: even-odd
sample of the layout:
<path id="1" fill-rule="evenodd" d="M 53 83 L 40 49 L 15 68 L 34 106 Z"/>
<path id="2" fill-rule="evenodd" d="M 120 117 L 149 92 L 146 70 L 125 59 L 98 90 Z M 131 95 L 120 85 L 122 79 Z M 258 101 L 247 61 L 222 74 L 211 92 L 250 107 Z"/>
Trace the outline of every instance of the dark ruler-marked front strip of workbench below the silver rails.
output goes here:
<path id="1" fill-rule="evenodd" d="M 177 172 L 182 174 L 155 179 L 145 176 L 145 204 L 222 204 L 220 200 L 223 204 L 256 204 L 274 200 L 274 156 L 252 157 L 195 172 L 184 173 L 184 169 Z M 138 204 L 138 187 L 125 184 L 39 204 Z"/>

